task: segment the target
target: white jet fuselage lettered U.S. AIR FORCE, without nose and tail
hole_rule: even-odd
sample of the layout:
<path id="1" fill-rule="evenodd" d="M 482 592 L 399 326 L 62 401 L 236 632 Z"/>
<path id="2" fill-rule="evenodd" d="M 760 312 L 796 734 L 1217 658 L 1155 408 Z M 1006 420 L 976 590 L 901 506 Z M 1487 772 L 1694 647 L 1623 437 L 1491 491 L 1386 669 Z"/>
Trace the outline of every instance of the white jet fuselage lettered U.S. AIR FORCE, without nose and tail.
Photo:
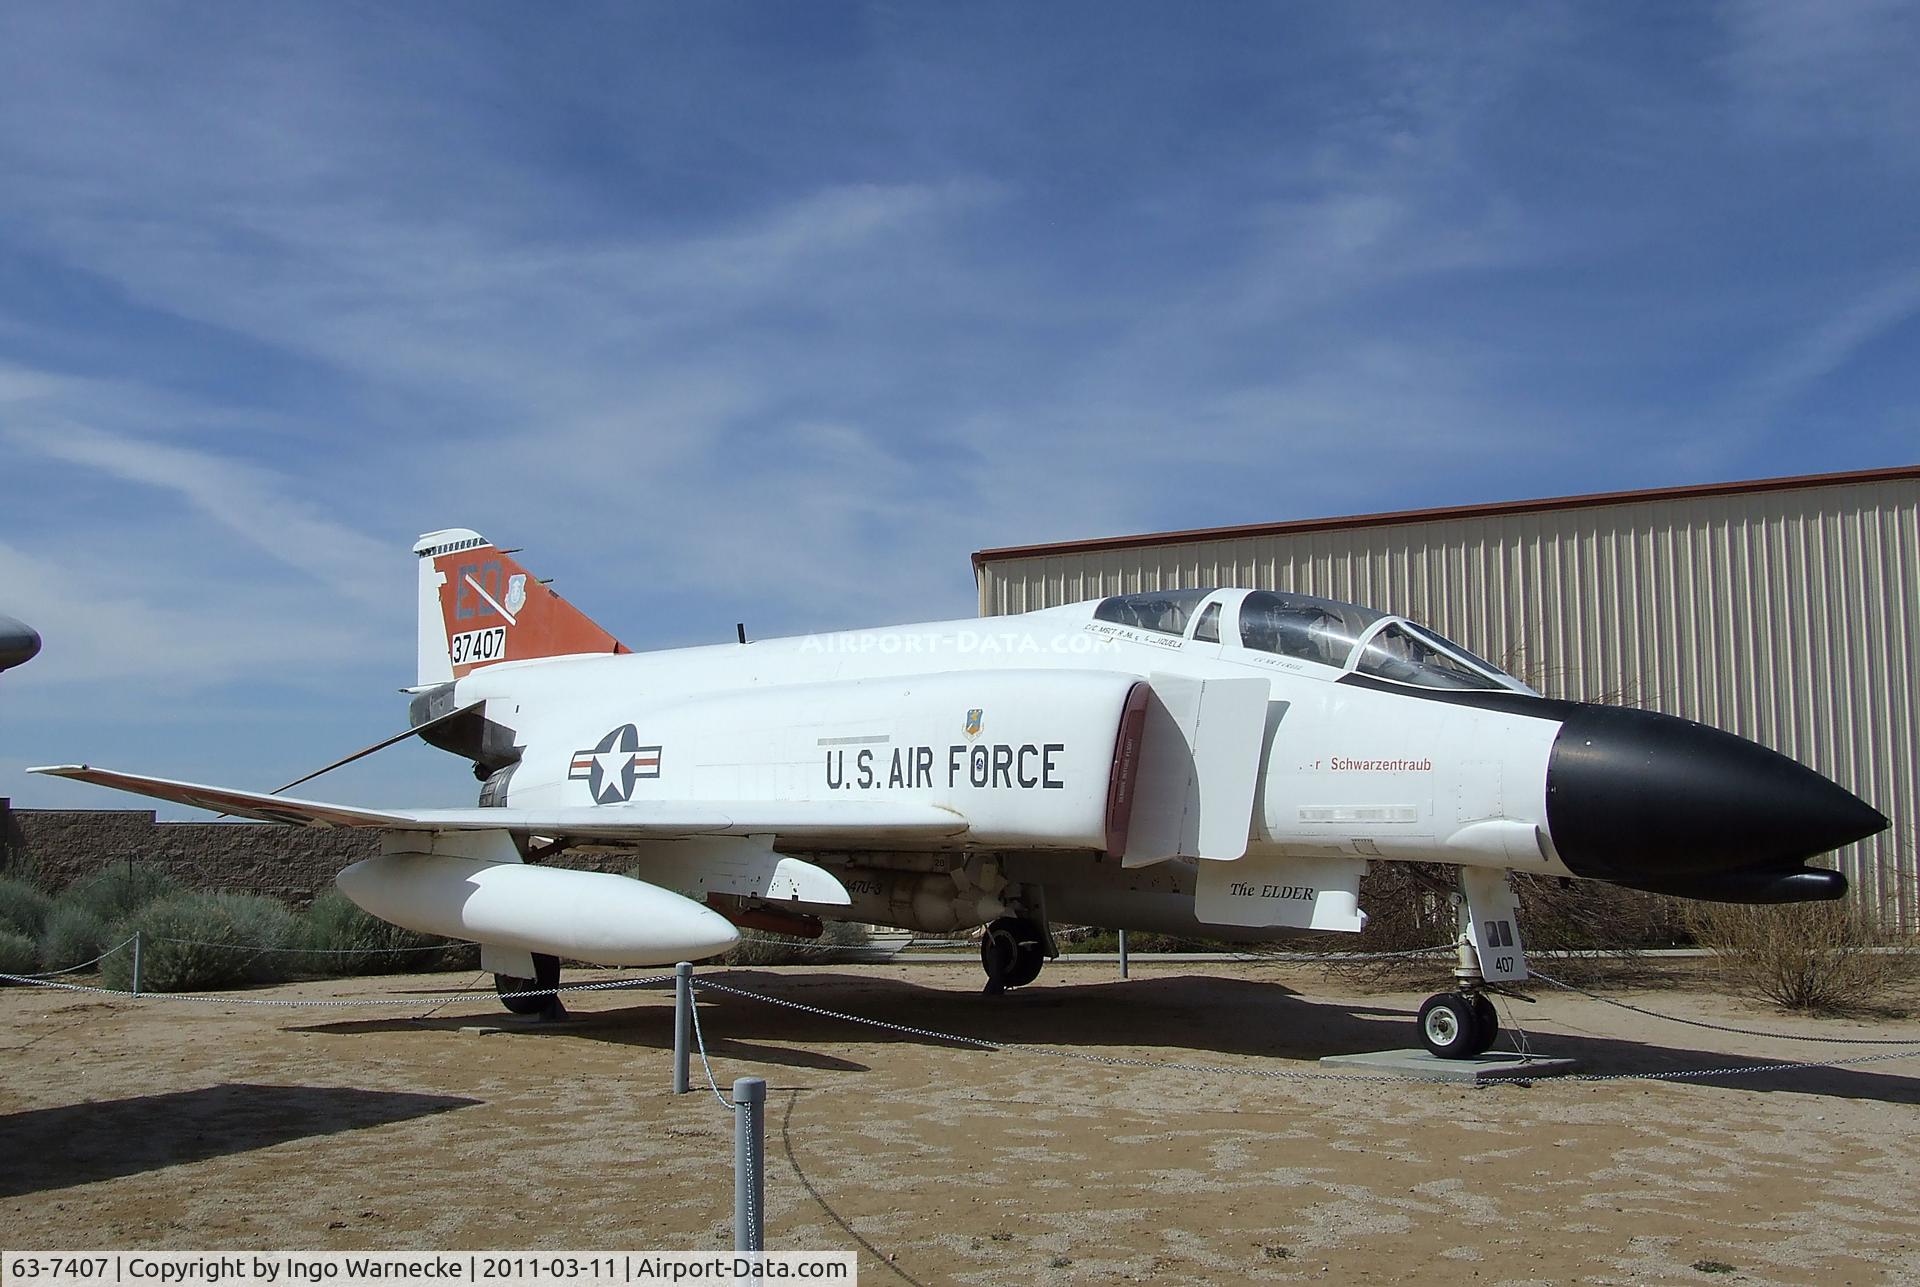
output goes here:
<path id="1" fill-rule="evenodd" d="M 1215 595 L 1223 638 L 1238 638 L 1240 595 Z M 1369 859 L 1567 874 L 1546 818 L 1559 732 L 1548 703 L 1517 715 L 1340 682 L 1344 674 L 1202 642 L 1190 628 L 1116 626 L 1079 603 L 991 620 L 505 663 L 457 680 L 453 703 L 484 703 L 490 722 L 513 730 L 518 763 L 495 797 L 513 809 L 593 805 L 595 789 L 607 807 L 904 799 L 948 809 L 966 820 L 952 838 L 858 851 L 781 839 L 783 851 L 829 864 L 852 893 L 851 907 L 795 911 L 914 930 L 991 920 L 1010 905 L 996 897 L 1000 882 L 1041 886 L 1054 918 L 1119 928 L 1260 939 L 1359 926 L 1338 916 L 1315 926 L 1306 912 L 1283 924 L 1208 920 L 1194 911 L 1208 861 L 1258 874 L 1261 886 L 1275 872 L 1332 870 L 1336 882 L 1281 882 L 1315 893 L 1357 886 Z M 1169 680 L 1238 682 L 1240 695 L 1258 695 L 1252 799 L 1240 805 L 1238 847 L 1175 843 L 1173 853 L 1129 857 L 1114 845 L 1116 743 L 1129 693 L 1142 684 L 1164 692 Z M 1526 707 L 1524 690 L 1515 690 L 1513 705 Z M 626 726 L 622 743 L 614 734 Z M 612 749 L 597 749 L 609 738 Z M 630 757 L 637 768 L 628 782 Z M 1139 839 L 1139 816 L 1131 822 Z M 1300 866 L 1315 861 L 1321 866 Z M 975 897 L 981 882 L 996 887 Z M 1073 909 L 1091 914 L 1068 916 Z"/>

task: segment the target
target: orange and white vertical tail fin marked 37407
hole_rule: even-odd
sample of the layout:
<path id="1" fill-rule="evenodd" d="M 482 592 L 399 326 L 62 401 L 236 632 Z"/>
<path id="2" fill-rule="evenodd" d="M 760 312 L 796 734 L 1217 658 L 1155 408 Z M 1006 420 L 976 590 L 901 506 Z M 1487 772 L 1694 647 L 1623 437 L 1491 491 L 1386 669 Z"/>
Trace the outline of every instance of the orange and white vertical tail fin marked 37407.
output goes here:
<path id="1" fill-rule="evenodd" d="M 478 532 L 428 532 L 413 553 L 420 557 L 422 688 L 501 661 L 628 651 Z"/>

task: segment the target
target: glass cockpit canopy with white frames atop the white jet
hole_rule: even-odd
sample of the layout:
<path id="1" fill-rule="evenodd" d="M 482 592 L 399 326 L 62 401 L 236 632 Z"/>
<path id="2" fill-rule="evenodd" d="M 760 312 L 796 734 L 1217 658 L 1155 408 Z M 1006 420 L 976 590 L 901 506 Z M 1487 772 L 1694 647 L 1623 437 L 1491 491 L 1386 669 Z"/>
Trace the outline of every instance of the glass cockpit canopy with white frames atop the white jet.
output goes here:
<path id="1" fill-rule="evenodd" d="M 1532 692 L 1427 626 L 1356 603 L 1275 590 L 1146 590 L 1100 599 L 1094 620 L 1238 644 L 1417 688 Z"/>

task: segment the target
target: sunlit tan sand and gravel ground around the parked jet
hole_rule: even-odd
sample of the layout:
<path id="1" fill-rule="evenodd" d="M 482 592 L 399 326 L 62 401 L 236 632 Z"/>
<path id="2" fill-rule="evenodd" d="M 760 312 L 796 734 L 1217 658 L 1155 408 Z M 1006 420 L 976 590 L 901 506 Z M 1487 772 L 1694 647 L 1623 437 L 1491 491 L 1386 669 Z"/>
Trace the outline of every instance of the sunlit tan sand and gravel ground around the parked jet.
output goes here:
<path id="1" fill-rule="evenodd" d="M 1684 1081 L 1281 1080 L 1407 1045 L 1425 991 L 1304 966 L 707 972 L 979 1051 L 703 993 L 726 1085 L 764 1076 L 768 1245 L 856 1249 L 866 1283 L 1920 1281 L 1914 1058 Z M 570 976 L 568 982 L 597 978 Z M 253 997 L 434 993 L 384 1010 L 0 989 L 0 1201 L 13 1249 L 720 1249 L 732 1120 L 672 1097 L 672 1001 L 593 993 L 497 1033 L 472 976 Z M 1709 991 L 1620 993 L 1820 1035 Z M 1565 993 L 1507 1007 L 1588 1072 L 1859 1056 Z"/>

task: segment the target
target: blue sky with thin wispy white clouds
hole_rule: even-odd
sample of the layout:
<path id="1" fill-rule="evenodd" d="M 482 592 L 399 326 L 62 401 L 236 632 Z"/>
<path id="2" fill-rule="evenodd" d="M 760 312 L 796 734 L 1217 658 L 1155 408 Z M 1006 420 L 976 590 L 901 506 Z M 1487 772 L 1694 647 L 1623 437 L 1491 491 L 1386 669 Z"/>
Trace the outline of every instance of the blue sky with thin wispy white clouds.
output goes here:
<path id="1" fill-rule="evenodd" d="M 438 526 L 643 649 L 968 615 L 983 546 L 1912 463 L 1914 15 L 0 8 L 0 795 L 401 728 Z"/>

